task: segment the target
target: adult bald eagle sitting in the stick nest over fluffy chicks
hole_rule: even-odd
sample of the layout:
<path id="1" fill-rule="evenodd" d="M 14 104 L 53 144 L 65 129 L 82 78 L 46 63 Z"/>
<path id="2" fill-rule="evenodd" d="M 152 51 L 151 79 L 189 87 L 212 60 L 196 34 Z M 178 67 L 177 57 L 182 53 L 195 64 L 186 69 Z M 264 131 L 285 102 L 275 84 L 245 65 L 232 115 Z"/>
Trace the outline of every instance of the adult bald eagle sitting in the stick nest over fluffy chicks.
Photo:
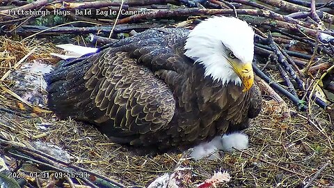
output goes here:
<path id="1" fill-rule="evenodd" d="M 253 36 L 234 17 L 148 29 L 59 65 L 47 78 L 49 108 L 115 143 L 159 150 L 243 130 L 261 109 Z"/>

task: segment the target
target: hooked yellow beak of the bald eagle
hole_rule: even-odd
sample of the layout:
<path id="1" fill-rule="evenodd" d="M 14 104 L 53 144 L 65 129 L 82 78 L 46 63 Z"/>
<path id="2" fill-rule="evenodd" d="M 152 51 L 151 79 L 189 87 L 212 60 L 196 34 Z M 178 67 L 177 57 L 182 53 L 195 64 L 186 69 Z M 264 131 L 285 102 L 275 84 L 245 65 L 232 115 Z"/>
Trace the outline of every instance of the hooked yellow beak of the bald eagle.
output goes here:
<path id="1" fill-rule="evenodd" d="M 252 63 L 232 63 L 232 67 L 234 68 L 234 71 L 237 72 L 237 75 L 239 75 L 239 78 L 242 81 L 242 84 L 244 84 L 244 90 L 248 91 L 252 86 L 254 82 L 254 73 L 252 68 Z"/>

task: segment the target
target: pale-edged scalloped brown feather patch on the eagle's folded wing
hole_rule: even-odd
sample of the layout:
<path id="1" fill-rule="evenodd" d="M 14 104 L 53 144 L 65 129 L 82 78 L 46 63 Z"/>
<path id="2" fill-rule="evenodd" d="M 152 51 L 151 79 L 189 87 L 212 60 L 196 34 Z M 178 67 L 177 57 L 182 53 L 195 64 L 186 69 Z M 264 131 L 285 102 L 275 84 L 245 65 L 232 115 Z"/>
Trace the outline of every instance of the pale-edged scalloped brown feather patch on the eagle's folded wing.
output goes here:
<path id="1" fill-rule="evenodd" d="M 140 134 L 167 125 L 175 110 L 168 86 L 127 52 L 105 50 L 101 54 L 100 61 L 93 63 L 84 79 L 88 80 L 90 100 L 102 116 L 97 117 L 94 109 L 88 110 L 84 113 L 87 120 L 101 124 L 110 118 L 114 127 Z"/>

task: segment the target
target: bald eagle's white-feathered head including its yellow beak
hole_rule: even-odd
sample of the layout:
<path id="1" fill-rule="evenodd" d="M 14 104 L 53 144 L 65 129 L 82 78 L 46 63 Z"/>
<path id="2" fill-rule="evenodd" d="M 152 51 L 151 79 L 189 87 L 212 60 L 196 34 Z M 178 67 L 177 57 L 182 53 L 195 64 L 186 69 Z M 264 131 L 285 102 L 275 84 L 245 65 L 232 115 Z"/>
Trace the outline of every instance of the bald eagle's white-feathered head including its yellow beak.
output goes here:
<path id="1" fill-rule="evenodd" d="M 204 65 L 205 77 L 234 82 L 244 91 L 253 85 L 254 31 L 235 17 L 211 17 L 200 22 L 186 39 L 184 55 Z"/>

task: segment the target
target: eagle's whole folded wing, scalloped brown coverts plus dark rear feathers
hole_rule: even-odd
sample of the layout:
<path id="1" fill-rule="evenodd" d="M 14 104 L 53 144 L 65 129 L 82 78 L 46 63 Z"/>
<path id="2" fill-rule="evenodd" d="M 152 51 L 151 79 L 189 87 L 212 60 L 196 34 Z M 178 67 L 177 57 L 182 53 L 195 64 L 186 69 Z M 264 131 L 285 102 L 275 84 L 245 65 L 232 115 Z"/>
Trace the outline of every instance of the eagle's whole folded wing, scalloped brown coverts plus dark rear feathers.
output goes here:
<path id="1" fill-rule="evenodd" d="M 131 52 L 132 48 L 138 50 L 134 51 L 136 58 L 131 58 L 134 54 L 127 52 Z M 151 67 L 155 66 L 155 69 L 170 69 L 173 65 L 168 67 L 165 62 L 161 62 L 164 58 L 159 57 L 159 50 L 148 53 L 145 49 L 148 47 L 140 48 L 136 44 L 127 45 L 127 49 L 108 48 L 83 61 L 67 65 L 75 65 L 75 68 L 60 68 L 58 73 L 64 71 L 66 77 L 64 79 L 60 76 L 59 80 L 54 79 L 50 84 L 50 98 L 57 100 L 49 101 L 51 109 L 52 104 L 56 104 L 57 107 L 53 110 L 58 112 L 58 115 L 64 114 L 108 126 L 105 128 L 109 130 L 110 126 L 114 125 L 116 129 L 120 128 L 132 134 L 155 132 L 166 126 L 175 111 L 173 93 L 164 81 L 157 77 L 158 73 L 138 63 L 150 64 Z M 161 56 L 173 58 L 168 54 Z M 174 62 L 168 58 L 165 61 Z M 86 68 L 88 64 L 91 65 L 90 68 Z M 166 70 L 161 70 L 164 71 Z M 173 83 L 173 80 L 170 82 Z M 85 109 L 86 111 L 82 111 Z"/>

